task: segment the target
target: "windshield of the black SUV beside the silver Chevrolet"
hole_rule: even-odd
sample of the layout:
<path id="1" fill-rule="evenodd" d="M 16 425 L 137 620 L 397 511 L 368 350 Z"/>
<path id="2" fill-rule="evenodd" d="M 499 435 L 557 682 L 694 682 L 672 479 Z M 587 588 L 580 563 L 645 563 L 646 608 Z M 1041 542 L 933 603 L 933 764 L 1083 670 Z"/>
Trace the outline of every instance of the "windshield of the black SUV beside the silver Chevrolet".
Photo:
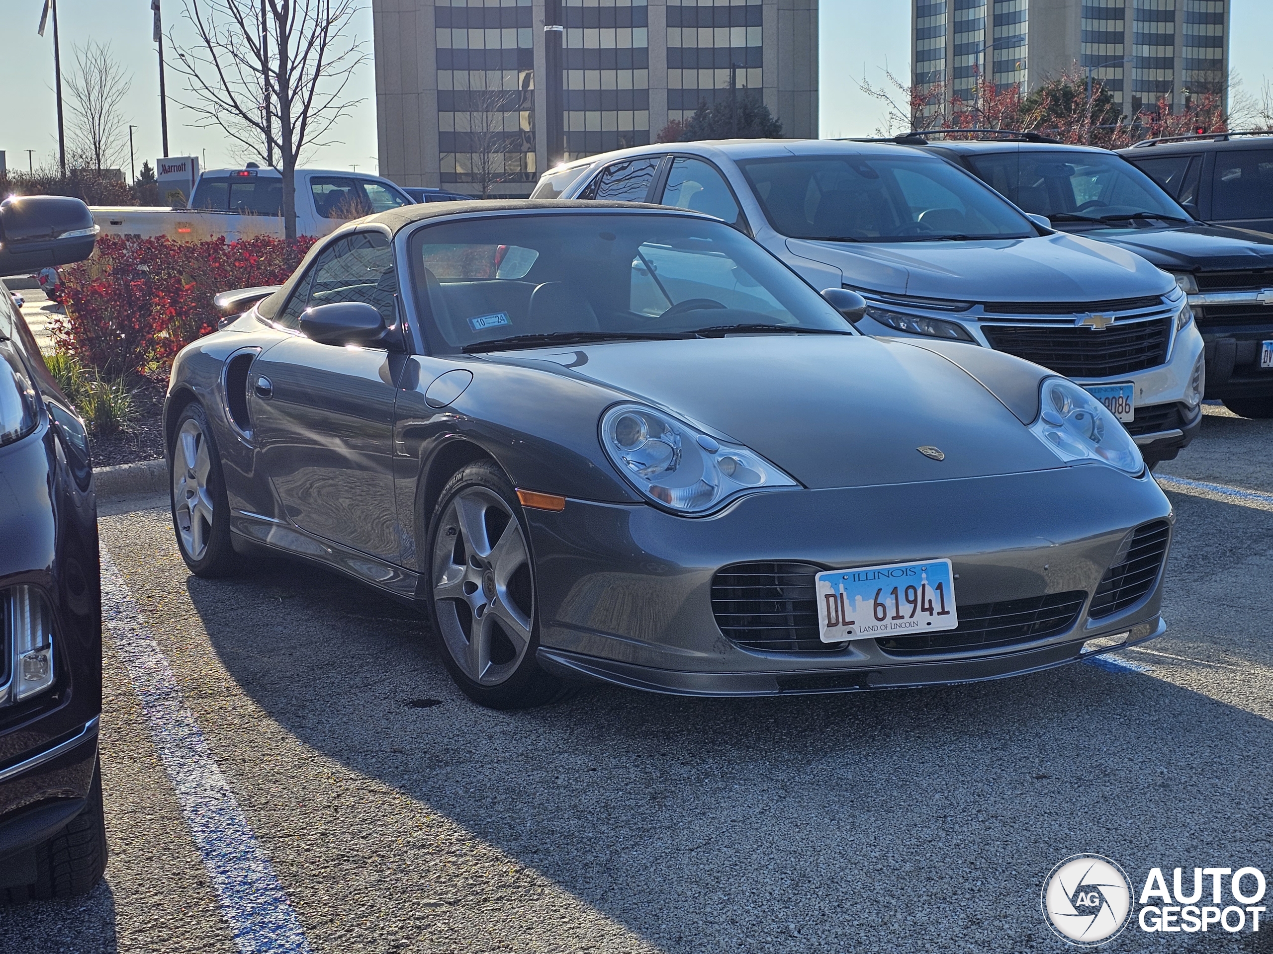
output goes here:
<path id="1" fill-rule="evenodd" d="M 1113 228 L 1157 216 L 1190 221 L 1153 179 L 1113 153 L 1022 149 L 969 162 L 993 188 L 1058 225 L 1092 220 Z"/>

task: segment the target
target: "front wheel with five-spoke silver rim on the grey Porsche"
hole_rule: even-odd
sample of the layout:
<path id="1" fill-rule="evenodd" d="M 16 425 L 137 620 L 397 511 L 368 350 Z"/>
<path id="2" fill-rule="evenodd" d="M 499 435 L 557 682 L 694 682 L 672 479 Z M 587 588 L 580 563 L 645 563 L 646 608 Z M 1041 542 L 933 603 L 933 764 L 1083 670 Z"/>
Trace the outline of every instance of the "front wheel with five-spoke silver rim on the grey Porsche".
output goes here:
<path id="1" fill-rule="evenodd" d="M 452 678 L 490 709 L 538 706 L 566 689 L 535 659 L 527 541 L 517 491 L 494 464 L 468 464 L 443 487 L 429 529 L 429 609 Z"/>

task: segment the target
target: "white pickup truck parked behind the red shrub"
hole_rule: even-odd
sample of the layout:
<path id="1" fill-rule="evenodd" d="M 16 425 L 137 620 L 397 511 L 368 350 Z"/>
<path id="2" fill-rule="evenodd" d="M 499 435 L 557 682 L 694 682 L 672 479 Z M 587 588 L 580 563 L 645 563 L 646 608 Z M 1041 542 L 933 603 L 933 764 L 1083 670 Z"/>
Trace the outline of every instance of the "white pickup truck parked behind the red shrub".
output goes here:
<path id="1" fill-rule="evenodd" d="M 297 169 L 297 234 L 326 235 L 349 219 L 412 205 L 388 179 L 365 173 Z M 103 235 L 201 242 L 276 235 L 283 238 L 283 174 L 250 163 L 209 169 L 195 182 L 188 209 L 95 206 Z"/>

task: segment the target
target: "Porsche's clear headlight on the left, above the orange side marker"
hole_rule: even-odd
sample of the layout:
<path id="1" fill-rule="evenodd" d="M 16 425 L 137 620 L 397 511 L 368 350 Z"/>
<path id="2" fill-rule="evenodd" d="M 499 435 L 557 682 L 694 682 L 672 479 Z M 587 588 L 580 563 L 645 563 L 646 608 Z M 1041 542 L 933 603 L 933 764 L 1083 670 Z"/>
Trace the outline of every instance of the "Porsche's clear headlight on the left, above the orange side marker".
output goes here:
<path id="1" fill-rule="evenodd" d="M 643 496 L 682 514 L 703 514 L 755 490 L 799 486 L 754 450 L 640 404 L 606 411 L 601 445 Z"/>

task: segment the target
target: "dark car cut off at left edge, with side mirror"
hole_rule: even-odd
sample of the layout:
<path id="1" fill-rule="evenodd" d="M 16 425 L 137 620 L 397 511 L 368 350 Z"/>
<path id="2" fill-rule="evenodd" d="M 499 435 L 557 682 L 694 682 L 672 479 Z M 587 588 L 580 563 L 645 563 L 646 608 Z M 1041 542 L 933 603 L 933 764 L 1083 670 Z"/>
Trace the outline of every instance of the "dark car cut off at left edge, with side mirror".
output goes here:
<path id="1" fill-rule="evenodd" d="M 5 200 L 0 275 L 94 235 L 79 200 Z M 0 901 L 79 894 L 106 868 L 101 607 L 88 435 L 0 294 Z"/>

